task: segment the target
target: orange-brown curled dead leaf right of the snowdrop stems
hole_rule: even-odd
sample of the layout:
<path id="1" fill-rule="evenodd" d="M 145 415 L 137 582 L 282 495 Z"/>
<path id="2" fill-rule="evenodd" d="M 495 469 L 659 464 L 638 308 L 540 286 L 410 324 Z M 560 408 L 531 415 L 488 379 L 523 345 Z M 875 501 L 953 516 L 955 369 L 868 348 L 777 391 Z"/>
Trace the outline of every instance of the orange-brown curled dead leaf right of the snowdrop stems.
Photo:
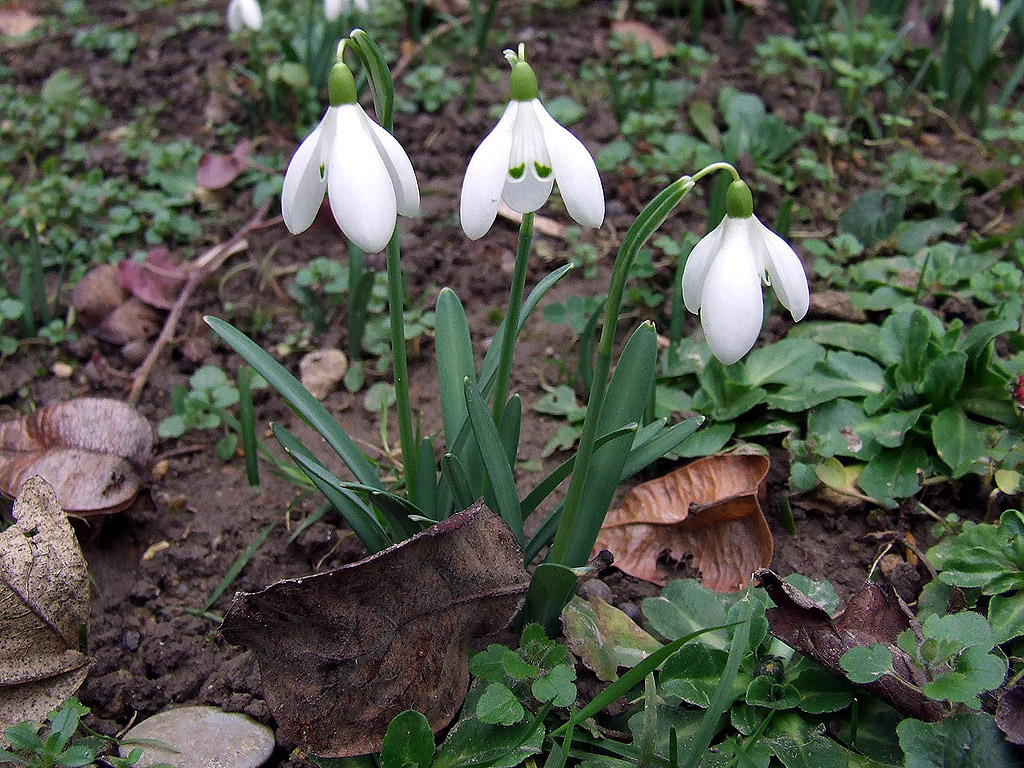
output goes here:
<path id="1" fill-rule="evenodd" d="M 738 592 L 774 552 L 757 498 L 767 473 L 763 456 L 710 456 L 641 483 L 608 513 L 594 550 L 608 550 L 615 567 L 663 587 L 664 559 L 692 556 L 701 584 Z"/>

